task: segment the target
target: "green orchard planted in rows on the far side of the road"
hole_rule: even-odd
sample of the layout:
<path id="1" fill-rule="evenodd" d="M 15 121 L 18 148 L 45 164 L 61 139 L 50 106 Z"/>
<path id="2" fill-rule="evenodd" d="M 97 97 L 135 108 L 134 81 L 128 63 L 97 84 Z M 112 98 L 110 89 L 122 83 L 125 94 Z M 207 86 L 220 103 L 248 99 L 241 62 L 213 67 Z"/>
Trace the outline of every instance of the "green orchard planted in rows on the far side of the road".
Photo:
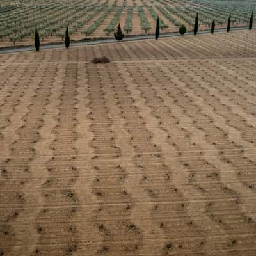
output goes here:
<path id="1" fill-rule="evenodd" d="M 65 40 L 67 26 L 70 36 L 77 32 L 85 36 L 93 35 L 106 17 L 110 17 L 110 22 L 102 29 L 106 35 L 113 35 L 121 15 L 125 14 L 124 31 L 131 33 L 134 30 L 134 13 L 137 11 L 141 29 L 145 33 L 154 26 L 148 18 L 157 21 L 158 16 L 162 31 L 168 31 L 170 26 L 163 17 L 177 28 L 185 24 L 192 31 L 196 13 L 199 17 L 198 28 L 201 26 L 201 29 L 207 29 L 205 26 L 210 29 L 212 20 L 215 20 L 216 26 L 225 26 L 230 13 L 230 27 L 248 26 L 252 29 L 253 12 L 256 10 L 256 1 L 253 0 L 190 0 L 189 3 L 188 0 L 141 1 L 143 6 L 137 6 L 136 0 L 131 2 L 131 6 L 127 6 L 126 0 L 122 3 L 115 0 L 113 4 L 109 0 L 1 0 L 0 40 L 10 40 L 13 44 L 33 40 L 35 27 L 40 31 L 41 41 L 49 36 L 59 36 Z"/>

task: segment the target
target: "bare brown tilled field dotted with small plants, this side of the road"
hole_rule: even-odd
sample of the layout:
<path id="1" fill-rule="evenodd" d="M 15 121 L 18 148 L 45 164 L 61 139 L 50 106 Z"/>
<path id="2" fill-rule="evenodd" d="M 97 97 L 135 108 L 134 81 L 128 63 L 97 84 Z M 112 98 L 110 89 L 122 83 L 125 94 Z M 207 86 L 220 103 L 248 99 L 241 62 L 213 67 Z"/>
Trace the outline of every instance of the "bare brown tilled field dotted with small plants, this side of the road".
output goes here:
<path id="1" fill-rule="evenodd" d="M 255 256 L 255 39 L 1 55 L 0 255 Z"/>

